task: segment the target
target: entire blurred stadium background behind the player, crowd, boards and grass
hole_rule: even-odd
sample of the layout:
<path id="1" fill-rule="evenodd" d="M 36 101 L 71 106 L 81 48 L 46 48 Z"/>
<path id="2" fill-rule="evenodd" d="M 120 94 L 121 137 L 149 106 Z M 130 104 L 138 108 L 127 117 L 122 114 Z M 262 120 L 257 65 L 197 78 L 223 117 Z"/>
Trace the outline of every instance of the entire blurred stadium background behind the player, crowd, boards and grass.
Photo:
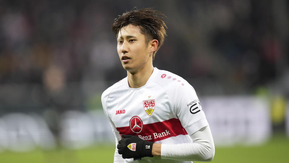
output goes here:
<path id="1" fill-rule="evenodd" d="M 167 16 L 154 66 L 197 91 L 212 162 L 287 162 L 286 0 L 1 0 L 0 162 L 112 162 L 100 97 L 126 72 L 111 25 L 136 6 Z"/>

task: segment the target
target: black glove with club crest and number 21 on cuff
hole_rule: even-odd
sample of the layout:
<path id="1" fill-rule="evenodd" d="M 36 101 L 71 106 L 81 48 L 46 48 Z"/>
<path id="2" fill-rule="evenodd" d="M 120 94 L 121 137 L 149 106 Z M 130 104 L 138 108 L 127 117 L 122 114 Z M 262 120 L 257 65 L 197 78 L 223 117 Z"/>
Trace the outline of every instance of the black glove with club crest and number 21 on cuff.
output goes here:
<path id="1" fill-rule="evenodd" d="M 142 157 L 153 157 L 151 154 L 154 142 L 145 141 L 138 136 L 124 135 L 118 141 L 118 153 L 123 158 L 141 159 Z"/>

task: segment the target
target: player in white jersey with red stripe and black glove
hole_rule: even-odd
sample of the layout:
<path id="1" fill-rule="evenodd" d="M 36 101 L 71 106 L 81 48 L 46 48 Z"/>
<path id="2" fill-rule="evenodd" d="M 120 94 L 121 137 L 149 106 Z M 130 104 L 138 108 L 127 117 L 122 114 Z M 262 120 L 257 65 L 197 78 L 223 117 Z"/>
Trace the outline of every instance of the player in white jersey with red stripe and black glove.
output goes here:
<path id="1" fill-rule="evenodd" d="M 127 77 L 101 96 L 116 139 L 114 162 L 211 161 L 215 147 L 194 88 L 153 67 L 166 36 L 159 11 L 132 10 L 112 26 Z"/>

